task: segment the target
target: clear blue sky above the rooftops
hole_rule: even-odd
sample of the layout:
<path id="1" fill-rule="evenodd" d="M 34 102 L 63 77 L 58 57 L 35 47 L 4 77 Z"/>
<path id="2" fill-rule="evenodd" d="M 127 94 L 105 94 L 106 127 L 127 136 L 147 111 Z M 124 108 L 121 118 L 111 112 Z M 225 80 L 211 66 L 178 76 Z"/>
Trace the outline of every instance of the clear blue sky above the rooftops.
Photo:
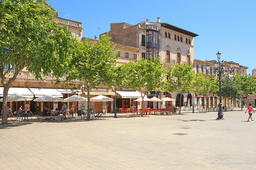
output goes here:
<path id="1" fill-rule="evenodd" d="M 49 0 L 62 18 L 83 23 L 83 36 L 110 31 L 110 23 L 161 22 L 195 32 L 194 58 L 224 61 L 256 68 L 255 0 Z"/>

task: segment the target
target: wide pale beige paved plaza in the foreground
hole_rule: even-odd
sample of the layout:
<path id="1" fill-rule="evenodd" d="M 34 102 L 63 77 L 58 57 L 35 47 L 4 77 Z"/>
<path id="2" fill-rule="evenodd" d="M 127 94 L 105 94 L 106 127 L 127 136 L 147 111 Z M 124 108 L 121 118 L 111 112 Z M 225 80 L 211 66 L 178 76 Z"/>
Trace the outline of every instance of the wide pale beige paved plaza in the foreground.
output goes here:
<path id="1" fill-rule="evenodd" d="M 245 111 L 224 117 L 11 121 L 0 125 L 0 169 L 256 169 L 256 121 Z"/>

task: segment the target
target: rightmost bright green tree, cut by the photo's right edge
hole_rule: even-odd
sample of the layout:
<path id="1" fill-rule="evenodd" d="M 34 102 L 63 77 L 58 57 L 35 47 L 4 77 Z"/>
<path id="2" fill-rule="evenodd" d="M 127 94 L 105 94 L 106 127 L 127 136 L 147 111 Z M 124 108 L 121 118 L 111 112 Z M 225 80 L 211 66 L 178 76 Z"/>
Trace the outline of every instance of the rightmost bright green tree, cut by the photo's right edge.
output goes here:
<path id="1" fill-rule="evenodd" d="M 241 73 L 240 75 L 237 73 L 233 76 L 234 81 L 237 84 L 240 84 L 241 86 L 241 95 L 242 97 L 243 94 L 251 94 L 253 92 L 256 92 L 256 79 L 251 76 L 251 74 L 245 74 Z M 242 99 L 241 99 L 241 110 L 243 110 L 243 104 L 242 104 Z"/>

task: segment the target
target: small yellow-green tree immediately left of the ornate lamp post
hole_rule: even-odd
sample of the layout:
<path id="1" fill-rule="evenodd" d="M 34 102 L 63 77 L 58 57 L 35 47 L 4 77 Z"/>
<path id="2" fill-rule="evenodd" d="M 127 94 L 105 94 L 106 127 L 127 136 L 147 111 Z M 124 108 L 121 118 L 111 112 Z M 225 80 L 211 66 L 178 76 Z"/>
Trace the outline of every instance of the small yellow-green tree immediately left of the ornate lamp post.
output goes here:
<path id="1" fill-rule="evenodd" d="M 202 93 L 207 95 L 206 100 L 206 112 L 208 107 L 208 97 L 210 94 L 216 94 L 218 91 L 218 80 L 217 76 L 213 75 L 211 77 L 204 76 L 202 72 L 196 73 L 193 81 L 194 91 L 197 93 Z"/>

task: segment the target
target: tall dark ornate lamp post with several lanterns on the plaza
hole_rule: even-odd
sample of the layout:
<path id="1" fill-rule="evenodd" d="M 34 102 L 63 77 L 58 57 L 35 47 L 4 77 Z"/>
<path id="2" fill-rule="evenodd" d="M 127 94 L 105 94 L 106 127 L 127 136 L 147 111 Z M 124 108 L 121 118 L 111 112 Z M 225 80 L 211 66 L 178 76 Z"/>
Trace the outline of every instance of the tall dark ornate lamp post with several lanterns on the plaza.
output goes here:
<path id="1" fill-rule="evenodd" d="M 216 61 L 214 63 L 214 67 L 215 67 L 215 71 L 217 71 L 217 75 L 218 75 L 218 78 L 219 78 L 219 96 L 220 96 L 220 103 L 218 104 L 218 107 L 219 107 L 219 112 L 218 112 L 218 117 L 216 118 L 216 120 L 225 120 L 225 118 L 223 118 L 224 114 L 222 112 L 222 91 L 221 91 L 221 85 L 222 85 L 222 74 L 224 74 L 225 72 L 228 72 L 228 73 L 231 73 L 233 71 L 233 68 L 234 68 L 234 63 L 231 62 L 230 63 L 230 68 L 231 70 L 224 70 L 225 69 L 225 66 L 223 65 L 223 60 L 220 61 L 220 52 L 218 51 L 217 53 L 217 58 L 218 58 L 218 61 Z M 222 65 L 221 65 L 222 63 Z M 207 70 L 210 70 L 210 65 L 207 64 L 206 65 L 206 69 Z"/>

